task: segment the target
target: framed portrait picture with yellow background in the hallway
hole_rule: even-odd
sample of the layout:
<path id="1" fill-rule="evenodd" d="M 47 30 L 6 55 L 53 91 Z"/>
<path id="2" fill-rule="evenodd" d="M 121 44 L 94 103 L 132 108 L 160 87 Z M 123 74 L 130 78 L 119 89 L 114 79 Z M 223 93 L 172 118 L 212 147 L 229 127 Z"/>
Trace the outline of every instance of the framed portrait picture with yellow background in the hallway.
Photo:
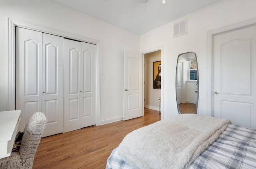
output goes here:
<path id="1" fill-rule="evenodd" d="M 161 89 L 161 61 L 153 62 L 153 88 Z"/>

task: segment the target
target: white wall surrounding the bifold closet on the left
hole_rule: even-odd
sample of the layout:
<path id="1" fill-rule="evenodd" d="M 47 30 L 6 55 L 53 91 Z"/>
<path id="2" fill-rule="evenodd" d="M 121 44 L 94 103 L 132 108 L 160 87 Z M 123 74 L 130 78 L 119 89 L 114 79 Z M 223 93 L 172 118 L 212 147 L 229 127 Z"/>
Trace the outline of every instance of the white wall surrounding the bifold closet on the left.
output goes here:
<path id="1" fill-rule="evenodd" d="M 139 35 L 49 0 L 0 0 L 0 111 L 8 110 L 8 18 L 100 41 L 101 124 L 122 120 L 123 50 L 139 51 Z"/>

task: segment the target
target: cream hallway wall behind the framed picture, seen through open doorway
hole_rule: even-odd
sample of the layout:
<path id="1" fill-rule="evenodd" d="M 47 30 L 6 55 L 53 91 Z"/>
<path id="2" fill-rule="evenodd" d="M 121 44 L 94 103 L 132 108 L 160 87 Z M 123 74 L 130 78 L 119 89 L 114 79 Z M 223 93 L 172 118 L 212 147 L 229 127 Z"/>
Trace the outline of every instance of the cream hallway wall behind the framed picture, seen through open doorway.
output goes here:
<path id="1" fill-rule="evenodd" d="M 146 104 L 144 107 L 150 108 L 153 110 L 158 110 L 158 99 L 161 97 L 161 90 L 153 88 L 153 62 L 161 61 L 161 51 L 155 51 L 152 53 L 147 53 L 144 55 L 146 59 L 146 78 L 145 78 L 145 85 L 146 85 L 146 94 L 144 97 L 146 99 Z"/>

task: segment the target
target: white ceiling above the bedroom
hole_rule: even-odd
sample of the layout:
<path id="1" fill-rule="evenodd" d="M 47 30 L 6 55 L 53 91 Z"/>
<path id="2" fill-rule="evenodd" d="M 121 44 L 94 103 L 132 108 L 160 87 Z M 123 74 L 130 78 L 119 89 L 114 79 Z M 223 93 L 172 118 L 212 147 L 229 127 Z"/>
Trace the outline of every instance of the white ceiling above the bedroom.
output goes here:
<path id="1" fill-rule="evenodd" d="M 52 0 L 139 35 L 220 0 Z"/>

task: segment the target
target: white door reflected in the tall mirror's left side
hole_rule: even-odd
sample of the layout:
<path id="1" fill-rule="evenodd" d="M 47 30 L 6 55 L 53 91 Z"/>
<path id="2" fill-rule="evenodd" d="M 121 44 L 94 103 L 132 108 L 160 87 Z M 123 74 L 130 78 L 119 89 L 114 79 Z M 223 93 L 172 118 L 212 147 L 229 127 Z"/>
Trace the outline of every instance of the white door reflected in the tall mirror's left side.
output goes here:
<path id="1" fill-rule="evenodd" d="M 177 65 L 176 92 L 178 104 L 182 103 L 182 62 L 178 61 Z"/>

